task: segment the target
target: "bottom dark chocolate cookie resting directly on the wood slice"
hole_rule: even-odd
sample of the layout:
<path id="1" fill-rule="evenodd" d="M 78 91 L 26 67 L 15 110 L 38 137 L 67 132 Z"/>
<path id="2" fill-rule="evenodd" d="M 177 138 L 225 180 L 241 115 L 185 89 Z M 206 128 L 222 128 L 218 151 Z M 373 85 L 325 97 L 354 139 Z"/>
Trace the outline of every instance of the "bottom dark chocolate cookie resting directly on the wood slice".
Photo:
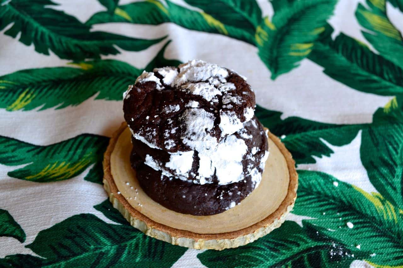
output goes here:
<path id="1" fill-rule="evenodd" d="M 152 200 L 183 214 L 207 216 L 224 212 L 239 204 L 256 186 L 250 175 L 243 181 L 226 185 L 201 185 L 166 177 L 161 171 L 145 165 L 135 150 L 132 150 L 131 165 L 136 170 L 141 189 Z M 263 171 L 259 167 L 258 169 L 260 173 Z"/>

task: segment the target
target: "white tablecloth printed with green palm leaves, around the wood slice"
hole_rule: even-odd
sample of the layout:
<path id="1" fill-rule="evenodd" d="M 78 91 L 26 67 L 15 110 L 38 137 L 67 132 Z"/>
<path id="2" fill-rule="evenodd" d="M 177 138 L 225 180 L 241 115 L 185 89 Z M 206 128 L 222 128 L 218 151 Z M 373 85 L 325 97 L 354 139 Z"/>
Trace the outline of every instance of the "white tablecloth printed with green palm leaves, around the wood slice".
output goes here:
<path id="1" fill-rule="evenodd" d="M 0 266 L 403 266 L 403 0 L 0 2 Z M 102 188 L 127 85 L 195 58 L 247 76 L 299 173 L 236 249 L 147 237 Z"/>

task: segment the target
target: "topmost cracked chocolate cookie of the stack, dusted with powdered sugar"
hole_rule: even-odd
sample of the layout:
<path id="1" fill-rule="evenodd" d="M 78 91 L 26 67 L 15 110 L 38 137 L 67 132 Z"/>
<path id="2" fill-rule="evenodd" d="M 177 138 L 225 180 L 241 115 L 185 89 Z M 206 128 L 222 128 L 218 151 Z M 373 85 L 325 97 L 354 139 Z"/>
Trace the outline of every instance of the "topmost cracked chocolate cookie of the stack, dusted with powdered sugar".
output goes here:
<path id="1" fill-rule="evenodd" d="M 170 153 L 216 146 L 241 129 L 255 107 L 241 76 L 201 60 L 143 72 L 123 96 L 133 136 Z"/>

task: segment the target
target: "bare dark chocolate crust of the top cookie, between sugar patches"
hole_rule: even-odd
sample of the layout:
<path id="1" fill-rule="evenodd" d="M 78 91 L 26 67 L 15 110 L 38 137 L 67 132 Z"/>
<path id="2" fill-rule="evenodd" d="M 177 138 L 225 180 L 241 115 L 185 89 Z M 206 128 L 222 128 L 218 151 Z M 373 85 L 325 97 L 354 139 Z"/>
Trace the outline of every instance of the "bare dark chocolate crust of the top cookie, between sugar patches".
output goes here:
<path id="1" fill-rule="evenodd" d="M 200 95 L 190 94 L 180 88 L 165 85 L 162 81 L 162 76 L 156 72 L 155 75 L 160 79 L 164 89 L 158 90 L 154 81 L 137 82 L 129 91 L 129 97 L 123 101 L 123 112 L 127 124 L 134 133 L 144 137 L 147 142 L 155 144 L 162 150 L 170 153 L 189 151 L 191 149 L 181 139 L 185 130 L 181 127 L 180 117 L 188 109 L 189 102 L 197 101 L 199 103 L 198 108 L 214 114 L 214 128 L 210 130 L 209 134 L 219 142 L 225 137 L 221 135 L 219 127 L 219 111 L 235 112 L 237 118 L 241 122 L 245 122 L 245 110 L 247 108 L 254 109 L 256 104 L 255 94 L 249 84 L 235 72 L 227 71 L 229 75 L 226 81 L 233 83 L 235 89 L 226 94 L 242 99 L 241 104 L 230 102 L 223 105 L 223 95 L 217 95 L 217 101 L 207 101 Z M 197 82 L 208 81 L 193 81 L 193 83 Z M 177 105 L 179 105 L 179 110 L 177 111 L 167 109 L 177 107 Z M 171 132 L 172 129 L 176 131 Z M 175 142 L 174 146 L 167 146 L 166 141 L 168 140 L 173 140 Z"/>

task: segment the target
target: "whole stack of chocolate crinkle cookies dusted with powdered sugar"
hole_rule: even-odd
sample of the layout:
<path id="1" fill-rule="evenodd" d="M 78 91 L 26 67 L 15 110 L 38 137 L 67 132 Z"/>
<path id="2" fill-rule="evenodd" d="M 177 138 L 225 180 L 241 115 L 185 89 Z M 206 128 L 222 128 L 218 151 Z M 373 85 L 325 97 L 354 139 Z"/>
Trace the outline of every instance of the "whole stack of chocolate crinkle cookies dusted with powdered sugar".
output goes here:
<path id="1" fill-rule="evenodd" d="M 201 60 L 143 72 L 123 94 L 132 167 L 145 193 L 171 210 L 212 215 L 262 178 L 267 134 L 239 74 Z"/>

